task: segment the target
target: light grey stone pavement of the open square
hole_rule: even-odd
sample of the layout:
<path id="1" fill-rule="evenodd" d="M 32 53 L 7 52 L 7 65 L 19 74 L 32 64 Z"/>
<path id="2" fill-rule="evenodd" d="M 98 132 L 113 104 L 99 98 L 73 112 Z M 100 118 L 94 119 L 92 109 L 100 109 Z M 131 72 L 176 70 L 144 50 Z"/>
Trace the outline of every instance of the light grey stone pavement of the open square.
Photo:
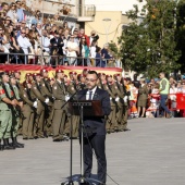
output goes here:
<path id="1" fill-rule="evenodd" d="M 116 182 L 108 176 L 107 185 L 185 185 L 185 119 L 134 119 L 128 127 L 107 136 L 108 174 Z M 60 185 L 69 176 L 69 141 L 20 141 L 24 149 L 0 152 L 0 185 Z M 74 175 L 79 159 L 74 140 Z M 96 174 L 95 159 L 94 164 Z"/>

